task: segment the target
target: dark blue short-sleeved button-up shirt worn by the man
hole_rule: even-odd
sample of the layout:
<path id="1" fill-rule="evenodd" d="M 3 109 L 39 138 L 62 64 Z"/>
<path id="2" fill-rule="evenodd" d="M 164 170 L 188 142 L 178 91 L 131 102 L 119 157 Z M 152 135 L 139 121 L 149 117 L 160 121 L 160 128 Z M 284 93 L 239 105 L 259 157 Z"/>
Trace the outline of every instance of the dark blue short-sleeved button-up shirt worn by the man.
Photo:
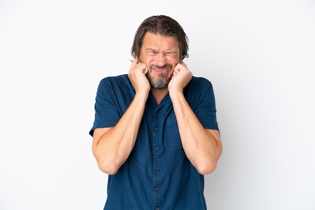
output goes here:
<path id="1" fill-rule="evenodd" d="M 126 74 L 101 80 L 95 103 L 96 128 L 115 126 L 135 90 Z M 204 128 L 218 130 L 211 82 L 193 77 L 184 89 Z M 204 176 L 186 157 L 169 94 L 157 105 L 149 92 L 134 148 L 114 175 L 108 176 L 104 209 L 206 209 Z"/>

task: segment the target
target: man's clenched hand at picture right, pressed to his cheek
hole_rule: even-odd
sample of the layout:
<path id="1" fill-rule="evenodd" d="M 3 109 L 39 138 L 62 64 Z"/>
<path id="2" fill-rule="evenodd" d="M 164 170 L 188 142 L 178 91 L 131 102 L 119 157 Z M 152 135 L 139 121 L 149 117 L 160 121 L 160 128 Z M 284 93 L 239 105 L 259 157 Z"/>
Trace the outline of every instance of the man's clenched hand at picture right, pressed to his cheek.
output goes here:
<path id="1" fill-rule="evenodd" d="M 168 85 L 169 91 L 183 92 L 184 87 L 186 87 L 192 76 L 193 73 L 188 70 L 184 61 L 178 63 L 174 68 L 172 79 Z"/>

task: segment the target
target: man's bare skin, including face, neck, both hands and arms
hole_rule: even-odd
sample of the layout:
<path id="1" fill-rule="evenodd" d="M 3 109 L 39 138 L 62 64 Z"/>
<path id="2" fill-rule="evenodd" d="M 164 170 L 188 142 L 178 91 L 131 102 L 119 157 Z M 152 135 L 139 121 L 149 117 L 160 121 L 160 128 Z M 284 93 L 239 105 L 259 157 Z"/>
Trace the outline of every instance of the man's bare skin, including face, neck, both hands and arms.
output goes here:
<path id="1" fill-rule="evenodd" d="M 132 151 L 149 91 L 157 104 L 169 92 L 184 151 L 200 174 L 215 170 L 222 153 L 217 130 L 204 129 L 187 103 L 183 89 L 192 78 L 186 64 L 179 58 L 179 46 L 174 37 L 147 32 L 139 58 L 131 63 L 128 77 L 135 88 L 129 108 L 115 127 L 95 129 L 92 150 L 99 168 L 115 174 Z M 170 82 L 161 89 L 152 88 L 148 77 Z"/>

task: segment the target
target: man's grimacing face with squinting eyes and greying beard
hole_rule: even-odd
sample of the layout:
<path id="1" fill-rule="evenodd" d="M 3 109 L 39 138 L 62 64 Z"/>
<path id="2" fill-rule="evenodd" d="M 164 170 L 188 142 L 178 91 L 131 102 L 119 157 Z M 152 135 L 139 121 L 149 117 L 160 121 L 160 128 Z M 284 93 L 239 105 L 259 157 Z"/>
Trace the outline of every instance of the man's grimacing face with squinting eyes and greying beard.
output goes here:
<path id="1" fill-rule="evenodd" d="M 175 37 L 147 32 L 144 35 L 139 61 L 148 68 L 146 77 L 151 88 L 167 88 L 179 60 L 179 46 Z"/>

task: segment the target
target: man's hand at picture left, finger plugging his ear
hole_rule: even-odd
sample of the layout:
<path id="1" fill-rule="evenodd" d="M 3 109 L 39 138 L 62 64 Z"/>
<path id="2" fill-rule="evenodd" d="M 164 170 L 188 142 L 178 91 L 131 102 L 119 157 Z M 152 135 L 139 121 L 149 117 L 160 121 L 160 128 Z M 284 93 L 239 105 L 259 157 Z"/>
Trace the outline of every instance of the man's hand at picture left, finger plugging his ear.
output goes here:
<path id="1" fill-rule="evenodd" d="M 150 91 L 150 83 L 147 80 L 145 74 L 147 74 L 148 68 L 144 63 L 140 63 L 138 58 L 135 57 L 131 63 L 130 70 L 128 72 L 128 77 L 137 92 L 146 92 Z"/>

